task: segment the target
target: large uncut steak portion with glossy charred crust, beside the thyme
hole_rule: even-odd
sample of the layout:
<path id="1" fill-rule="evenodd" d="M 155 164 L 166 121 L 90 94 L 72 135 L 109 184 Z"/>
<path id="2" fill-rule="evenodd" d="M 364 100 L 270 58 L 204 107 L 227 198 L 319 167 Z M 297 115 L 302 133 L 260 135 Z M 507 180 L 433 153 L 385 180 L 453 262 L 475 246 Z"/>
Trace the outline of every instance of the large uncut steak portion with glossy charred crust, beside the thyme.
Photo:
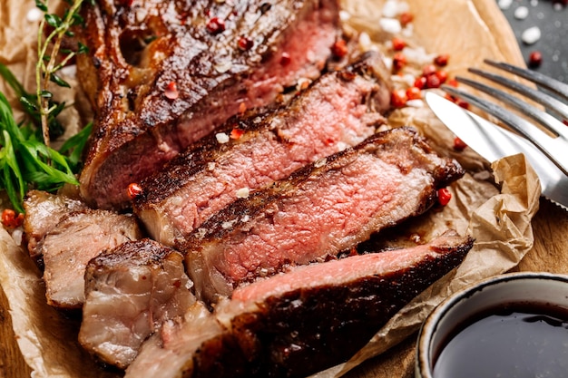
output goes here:
<path id="1" fill-rule="evenodd" d="M 337 0 L 99 0 L 78 68 L 96 113 L 81 175 L 99 208 L 243 108 L 315 79 L 338 34 Z"/>

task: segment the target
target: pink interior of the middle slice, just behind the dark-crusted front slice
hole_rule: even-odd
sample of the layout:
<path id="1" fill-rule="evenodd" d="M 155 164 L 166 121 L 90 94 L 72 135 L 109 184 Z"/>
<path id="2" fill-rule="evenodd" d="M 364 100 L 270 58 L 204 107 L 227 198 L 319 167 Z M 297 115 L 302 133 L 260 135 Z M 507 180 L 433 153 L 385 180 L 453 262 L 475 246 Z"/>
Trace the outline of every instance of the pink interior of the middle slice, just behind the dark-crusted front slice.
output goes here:
<path id="1" fill-rule="evenodd" d="M 203 254 L 216 255 L 213 264 L 220 273 L 240 282 L 261 275 L 262 269 L 274 273 L 285 264 L 308 264 L 338 253 L 349 239 L 370 232 L 367 225 L 377 214 L 391 210 L 388 204 L 403 179 L 396 166 L 361 155 L 282 199 L 274 214 L 254 222 L 246 237 L 231 237 L 222 251 Z"/>

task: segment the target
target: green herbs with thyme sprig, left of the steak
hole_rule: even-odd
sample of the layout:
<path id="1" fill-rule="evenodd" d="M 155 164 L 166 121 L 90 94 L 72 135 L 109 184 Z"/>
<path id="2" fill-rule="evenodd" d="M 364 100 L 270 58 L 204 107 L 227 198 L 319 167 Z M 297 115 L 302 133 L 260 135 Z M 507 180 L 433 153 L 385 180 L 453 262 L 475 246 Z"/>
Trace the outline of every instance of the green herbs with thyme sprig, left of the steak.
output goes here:
<path id="1" fill-rule="evenodd" d="M 73 26 L 83 24 L 79 10 L 83 0 L 65 0 L 70 7 L 64 16 L 48 13 L 48 0 L 35 0 L 44 12 L 39 24 L 36 64 L 36 91 L 26 92 L 14 74 L 0 63 L 0 75 L 14 90 L 27 121 L 18 124 L 4 93 L 0 92 L 0 189 L 5 189 L 16 211 L 24 212 L 24 196 L 28 189 L 54 191 L 64 184 L 78 185 L 75 174 L 81 169 L 81 157 L 92 125 L 64 143 L 60 150 L 50 147 L 51 138 L 63 134 L 64 127 L 57 120 L 65 109 L 64 102 L 55 102 L 49 83 L 70 87 L 58 71 L 86 47 L 78 44 L 76 51 L 62 48 L 66 37 L 73 37 Z M 84 0 L 90 1 L 90 0 Z M 92 0 L 91 0 L 92 2 Z M 44 37 L 49 25 L 52 31 Z M 62 58 L 60 53 L 64 54 Z"/>

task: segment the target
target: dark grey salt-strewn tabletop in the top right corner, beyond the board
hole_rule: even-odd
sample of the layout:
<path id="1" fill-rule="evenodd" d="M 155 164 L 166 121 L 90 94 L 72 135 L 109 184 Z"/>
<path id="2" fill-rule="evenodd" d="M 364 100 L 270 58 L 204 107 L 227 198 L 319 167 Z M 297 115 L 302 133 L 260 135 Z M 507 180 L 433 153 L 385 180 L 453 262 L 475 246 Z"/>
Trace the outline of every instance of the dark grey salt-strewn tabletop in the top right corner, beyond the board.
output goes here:
<path id="1" fill-rule="evenodd" d="M 524 20 L 514 17 L 519 6 L 529 10 Z M 543 63 L 534 70 L 568 82 L 568 5 L 553 0 L 513 0 L 507 9 L 502 10 L 513 27 L 524 61 L 528 63 L 530 53 L 539 51 L 543 54 Z M 521 34 L 532 26 L 541 29 L 541 38 L 534 44 L 524 44 Z"/>

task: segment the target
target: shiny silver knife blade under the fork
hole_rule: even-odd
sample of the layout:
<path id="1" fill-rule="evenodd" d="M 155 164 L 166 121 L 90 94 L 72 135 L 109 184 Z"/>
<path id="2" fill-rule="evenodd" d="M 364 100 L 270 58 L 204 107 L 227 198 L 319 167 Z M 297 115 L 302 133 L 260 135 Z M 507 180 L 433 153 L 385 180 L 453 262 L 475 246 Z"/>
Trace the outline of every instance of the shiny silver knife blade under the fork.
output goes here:
<path id="1" fill-rule="evenodd" d="M 426 93 L 426 103 L 449 130 L 486 160 L 524 153 L 541 181 L 544 198 L 568 211 L 568 176 L 531 142 L 434 92 Z"/>

